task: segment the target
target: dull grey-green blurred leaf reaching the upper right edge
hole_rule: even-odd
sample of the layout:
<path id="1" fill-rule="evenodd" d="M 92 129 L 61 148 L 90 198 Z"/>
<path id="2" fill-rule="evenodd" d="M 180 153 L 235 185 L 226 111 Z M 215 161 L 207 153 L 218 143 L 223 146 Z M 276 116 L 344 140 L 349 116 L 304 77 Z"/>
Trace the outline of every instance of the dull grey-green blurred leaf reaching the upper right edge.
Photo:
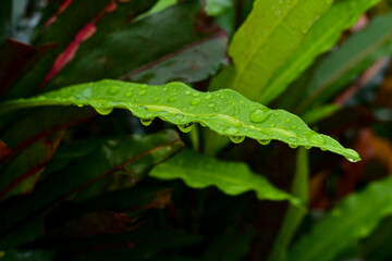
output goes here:
<path id="1" fill-rule="evenodd" d="M 308 96 L 298 104 L 297 111 L 326 102 L 379 58 L 391 54 L 392 13 L 376 17 L 322 61 L 307 86 Z"/>

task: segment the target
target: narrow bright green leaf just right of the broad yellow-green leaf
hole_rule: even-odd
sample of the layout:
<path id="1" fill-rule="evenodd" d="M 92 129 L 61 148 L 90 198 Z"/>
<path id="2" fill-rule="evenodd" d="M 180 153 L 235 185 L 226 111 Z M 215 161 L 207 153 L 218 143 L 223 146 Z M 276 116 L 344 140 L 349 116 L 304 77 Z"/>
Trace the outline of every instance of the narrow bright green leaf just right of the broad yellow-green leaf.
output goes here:
<path id="1" fill-rule="evenodd" d="M 267 104 L 299 76 L 321 53 L 338 41 L 342 32 L 350 28 L 359 16 L 380 0 L 336 1 L 310 28 L 299 49 L 273 75 L 261 96 Z M 344 15 L 342 15 L 344 14 Z"/>

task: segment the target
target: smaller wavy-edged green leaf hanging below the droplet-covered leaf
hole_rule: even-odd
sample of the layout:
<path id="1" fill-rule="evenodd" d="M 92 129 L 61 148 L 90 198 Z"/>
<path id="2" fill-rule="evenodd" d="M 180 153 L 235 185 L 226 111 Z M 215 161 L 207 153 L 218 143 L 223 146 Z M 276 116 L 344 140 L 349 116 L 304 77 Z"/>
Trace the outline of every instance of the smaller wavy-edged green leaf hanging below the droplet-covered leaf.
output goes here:
<path id="1" fill-rule="evenodd" d="M 154 167 L 149 175 L 159 179 L 181 178 L 193 188 L 216 186 L 232 196 L 254 190 L 260 200 L 301 203 L 296 198 L 273 187 L 264 176 L 252 172 L 244 163 L 218 161 L 187 149 Z"/>

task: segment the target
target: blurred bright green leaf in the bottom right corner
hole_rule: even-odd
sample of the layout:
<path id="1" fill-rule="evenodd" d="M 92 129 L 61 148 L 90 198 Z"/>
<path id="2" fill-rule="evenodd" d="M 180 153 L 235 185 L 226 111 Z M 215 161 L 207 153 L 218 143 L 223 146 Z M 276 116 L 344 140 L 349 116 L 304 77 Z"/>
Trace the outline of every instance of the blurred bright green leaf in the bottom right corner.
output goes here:
<path id="1" fill-rule="evenodd" d="M 368 236 L 392 213 L 391 187 L 392 177 L 388 177 L 348 196 L 297 241 L 289 260 L 332 260 L 351 243 Z"/>

